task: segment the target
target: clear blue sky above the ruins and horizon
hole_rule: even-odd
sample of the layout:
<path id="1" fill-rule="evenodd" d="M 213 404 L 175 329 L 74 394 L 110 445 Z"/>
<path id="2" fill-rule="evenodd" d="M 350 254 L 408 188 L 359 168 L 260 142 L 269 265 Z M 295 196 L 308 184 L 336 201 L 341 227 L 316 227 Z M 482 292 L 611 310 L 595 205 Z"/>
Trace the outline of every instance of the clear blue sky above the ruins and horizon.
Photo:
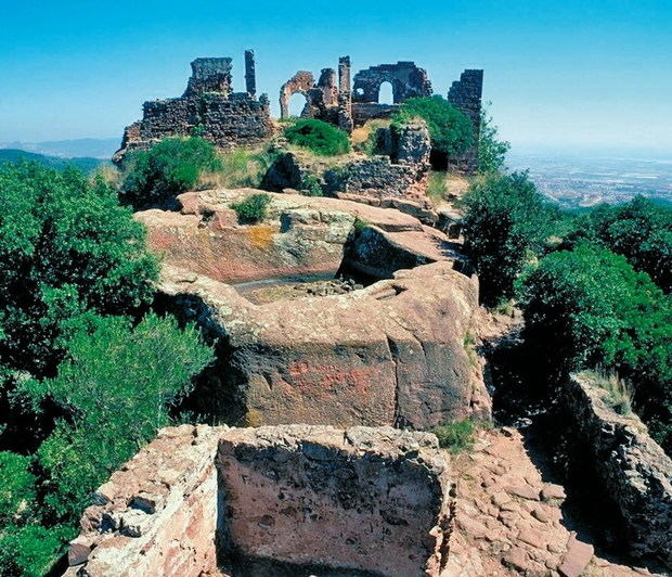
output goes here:
<path id="1" fill-rule="evenodd" d="M 254 48 L 275 113 L 297 69 L 413 60 L 442 94 L 484 68 L 515 146 L 672 152 L 672 0 L 0 0 L 0 141 L 120 138 L 195 57 L 233 56 L 243 89 Z"/>

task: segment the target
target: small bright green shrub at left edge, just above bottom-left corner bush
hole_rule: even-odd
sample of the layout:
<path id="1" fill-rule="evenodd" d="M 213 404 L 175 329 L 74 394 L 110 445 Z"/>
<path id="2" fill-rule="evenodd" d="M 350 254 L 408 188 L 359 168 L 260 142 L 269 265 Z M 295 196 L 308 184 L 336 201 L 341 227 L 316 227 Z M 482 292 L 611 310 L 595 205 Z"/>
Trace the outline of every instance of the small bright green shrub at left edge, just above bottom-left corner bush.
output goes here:
<path id="1" fill-rule="evenodd" d="M 0 527 L 20 523 L 34 508 L 37 477 L 29 466 L 29 457 L 0 451 Z"/>

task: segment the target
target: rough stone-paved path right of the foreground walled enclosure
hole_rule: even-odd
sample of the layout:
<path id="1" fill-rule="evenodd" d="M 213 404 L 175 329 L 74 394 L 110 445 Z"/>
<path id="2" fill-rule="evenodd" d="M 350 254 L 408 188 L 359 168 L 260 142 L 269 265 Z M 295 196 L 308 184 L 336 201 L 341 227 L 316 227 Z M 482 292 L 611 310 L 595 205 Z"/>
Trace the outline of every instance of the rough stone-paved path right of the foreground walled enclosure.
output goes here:
<path id="1" fill-rule="evenodd" d="M 564 488 L 543 482 L 518 431 L 482 431 L 471 452 L 451 460 L 456 523 L 441 577 L 652 575 L 602 559 L 570 533 Z"/>

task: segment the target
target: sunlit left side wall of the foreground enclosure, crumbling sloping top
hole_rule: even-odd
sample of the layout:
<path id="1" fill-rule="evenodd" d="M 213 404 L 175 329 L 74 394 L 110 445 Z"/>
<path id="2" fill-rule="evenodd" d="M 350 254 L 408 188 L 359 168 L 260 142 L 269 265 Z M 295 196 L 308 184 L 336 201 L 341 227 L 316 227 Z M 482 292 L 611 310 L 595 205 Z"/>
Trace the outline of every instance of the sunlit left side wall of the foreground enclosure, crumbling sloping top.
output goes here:
<path id="1" fill-rule="evenodd" d="M 65 575 L 198 576 L 217 568 L 215 456 L 223 428 L 182 425 L 98 489 L 70 543 Z"/>

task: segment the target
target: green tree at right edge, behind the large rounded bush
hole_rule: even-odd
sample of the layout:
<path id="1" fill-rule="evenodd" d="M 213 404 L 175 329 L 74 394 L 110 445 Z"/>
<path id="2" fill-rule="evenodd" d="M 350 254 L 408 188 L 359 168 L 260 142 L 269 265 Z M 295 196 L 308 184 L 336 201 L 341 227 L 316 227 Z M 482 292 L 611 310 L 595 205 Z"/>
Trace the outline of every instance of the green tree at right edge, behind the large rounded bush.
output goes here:
<path id="1" fill-rule="evenodd" d="M 649 274 L 665 293 L 672 291 L 672 209 L 637 196 L 629 203 L 599 206 L 583 217 L 568 242 L 593 242 L 623 255 Z"/>

